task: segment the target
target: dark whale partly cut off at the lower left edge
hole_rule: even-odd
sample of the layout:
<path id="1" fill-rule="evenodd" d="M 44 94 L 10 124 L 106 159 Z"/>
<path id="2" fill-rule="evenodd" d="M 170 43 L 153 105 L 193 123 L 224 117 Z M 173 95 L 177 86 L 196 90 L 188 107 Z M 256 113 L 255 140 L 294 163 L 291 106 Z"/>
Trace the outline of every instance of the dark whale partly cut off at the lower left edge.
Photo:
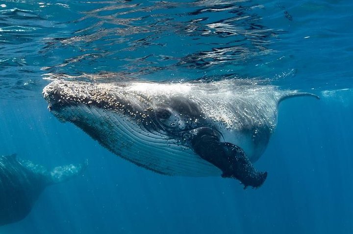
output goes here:
<path id="1" fill-rule="evenodd" d="M 49 171 L 15 154 L 0 156 L 0 226 L 20 221 L 31 211 L 41 192 L 82 173 L 87 163 Z"/>

